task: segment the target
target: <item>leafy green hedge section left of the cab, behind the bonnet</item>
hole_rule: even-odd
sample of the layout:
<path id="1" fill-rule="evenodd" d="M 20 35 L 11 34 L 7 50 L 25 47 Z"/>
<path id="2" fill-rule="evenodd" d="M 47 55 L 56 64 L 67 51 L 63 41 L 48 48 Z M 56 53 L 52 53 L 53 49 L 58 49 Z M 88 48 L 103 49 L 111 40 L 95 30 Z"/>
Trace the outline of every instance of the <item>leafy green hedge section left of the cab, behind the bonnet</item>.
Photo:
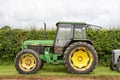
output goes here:
<path id="1" fill-rule="evenodd" d="M 47 31 L 46 39 L 54 39 L 55 30 Z M 25 40 L 42 40 L 44 39 L 44 30 L 22 30 L 3 27 L 0 29 L 0 64 L 3 62 L 14 62 L 15 56 L 21 50 Z"/>

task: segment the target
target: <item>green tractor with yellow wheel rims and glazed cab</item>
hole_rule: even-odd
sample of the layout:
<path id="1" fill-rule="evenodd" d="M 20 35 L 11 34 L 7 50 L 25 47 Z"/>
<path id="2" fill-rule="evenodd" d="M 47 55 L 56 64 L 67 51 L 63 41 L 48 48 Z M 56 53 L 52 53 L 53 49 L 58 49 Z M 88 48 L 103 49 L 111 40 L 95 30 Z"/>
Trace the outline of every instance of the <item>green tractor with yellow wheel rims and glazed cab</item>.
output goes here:
<path id="1" fill-rule="evenodd" d="M 15 68 L 21 74 L 33 74 L 44 63 L 64 64 L 74 74 L 87 74 L 98 63 L 93 42 L 87 39 L 90 24 L 58 22 L 55 40 L 24 41 L 22 51 L 15 58 Z"/>

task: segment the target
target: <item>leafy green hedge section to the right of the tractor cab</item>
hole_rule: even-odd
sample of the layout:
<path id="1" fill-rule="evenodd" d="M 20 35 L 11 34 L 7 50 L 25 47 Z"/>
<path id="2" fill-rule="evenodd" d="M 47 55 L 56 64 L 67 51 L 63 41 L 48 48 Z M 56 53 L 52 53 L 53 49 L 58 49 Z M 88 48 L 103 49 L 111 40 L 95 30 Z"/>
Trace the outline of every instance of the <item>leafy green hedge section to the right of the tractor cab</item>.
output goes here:
<path id="1" fill-rule="evenodd" d="M 99 63 L 108 66 L 112 59 L 112 50 L 120 48 L 120 29 L 88 31 L 88 34 L 94 41 Z"/>

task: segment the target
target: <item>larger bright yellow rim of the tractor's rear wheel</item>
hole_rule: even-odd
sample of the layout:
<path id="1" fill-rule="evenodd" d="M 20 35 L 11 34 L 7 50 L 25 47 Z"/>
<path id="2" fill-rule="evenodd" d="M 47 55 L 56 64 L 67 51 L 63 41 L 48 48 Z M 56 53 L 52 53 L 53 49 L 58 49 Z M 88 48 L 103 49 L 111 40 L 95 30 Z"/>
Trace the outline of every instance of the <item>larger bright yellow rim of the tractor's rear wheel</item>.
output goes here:
<path id="1" fill-rule="evenodd" d="M 91 66 L 93 56 L 85 47 L 77 47 L 71 51 L 69 61 L 74 69 L 83 71 Z"/>

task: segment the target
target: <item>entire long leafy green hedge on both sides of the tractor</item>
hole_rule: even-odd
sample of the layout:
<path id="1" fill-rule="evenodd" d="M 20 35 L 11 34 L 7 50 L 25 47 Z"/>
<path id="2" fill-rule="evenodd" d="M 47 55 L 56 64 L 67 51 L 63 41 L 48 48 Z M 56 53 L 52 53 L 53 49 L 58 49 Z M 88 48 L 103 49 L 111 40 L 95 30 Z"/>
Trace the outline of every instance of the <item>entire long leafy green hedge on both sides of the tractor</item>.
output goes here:
<path id="1" fill-rule="evenodd" d="M 0 64 L 14 62 L 15 56 L 21 50 L 23 41 L 31 39 L 44 39 L 43 29 L 11 29 L 5 26 L 0 29 Z M 46 39 L 53 40 L 55 30 L 47 30 Z M 120 48 L 120 29 L 89 30 L 88 38 L 94 42 L 98 52 L 99 64 L 108 66 L 111 61 L 113 49 Z"/>

